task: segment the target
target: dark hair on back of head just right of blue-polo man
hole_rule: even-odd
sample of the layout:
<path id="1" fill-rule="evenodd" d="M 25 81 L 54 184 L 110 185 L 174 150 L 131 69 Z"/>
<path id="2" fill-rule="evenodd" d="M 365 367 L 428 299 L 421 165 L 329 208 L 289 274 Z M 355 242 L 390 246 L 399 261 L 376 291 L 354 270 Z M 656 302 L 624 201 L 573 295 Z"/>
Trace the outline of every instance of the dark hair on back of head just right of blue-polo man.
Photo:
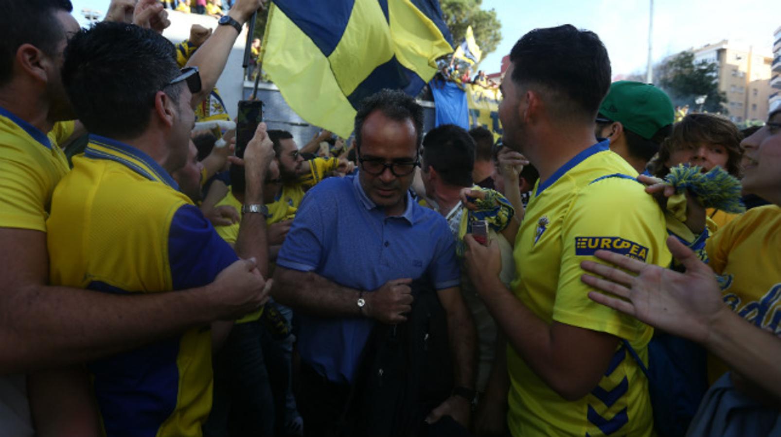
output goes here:
<path id="1" fill-rule="evenodd" d="M 423 138 L 423 170 L 437 170 L 445 183 L 472 187 L 475 166 L 475 140 L 453 124 L 438 126 Z"/>

